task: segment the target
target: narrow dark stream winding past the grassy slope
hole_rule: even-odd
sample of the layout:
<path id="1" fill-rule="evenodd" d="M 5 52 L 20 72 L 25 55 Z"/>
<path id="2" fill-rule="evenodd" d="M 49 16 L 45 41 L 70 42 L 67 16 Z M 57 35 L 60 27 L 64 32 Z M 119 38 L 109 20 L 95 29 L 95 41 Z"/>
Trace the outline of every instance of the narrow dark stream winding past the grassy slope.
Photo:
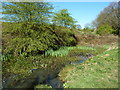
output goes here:
<path id="1" fill-rule="evenodd" d="M 8 88 L 26 88 L 26 90 L 34 90 L 36 85 L 48 85 L 52 88 L 63 89 L 63 82 L 59 80 L 59 72 L 66 65 L 70 64 L 80 64 L 87 60 L 85 56 L 79 56 L 82 60 L 75 62 L 69 62 L 65 65 L 58 66 L 57 69 L 50 70 L 48 69 L 33 69 L 31 70 L 32 74 L 25 79 L 16 81 L 15 78 L 19 77 L 15 74 L 10 75 L 8 78 L 3 78 L 3 90 L 8 90 Z"/>

